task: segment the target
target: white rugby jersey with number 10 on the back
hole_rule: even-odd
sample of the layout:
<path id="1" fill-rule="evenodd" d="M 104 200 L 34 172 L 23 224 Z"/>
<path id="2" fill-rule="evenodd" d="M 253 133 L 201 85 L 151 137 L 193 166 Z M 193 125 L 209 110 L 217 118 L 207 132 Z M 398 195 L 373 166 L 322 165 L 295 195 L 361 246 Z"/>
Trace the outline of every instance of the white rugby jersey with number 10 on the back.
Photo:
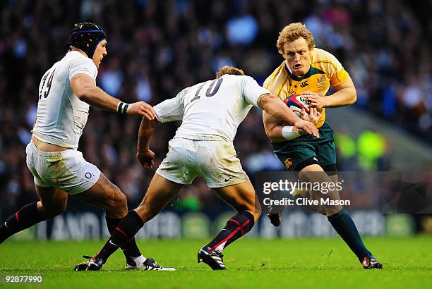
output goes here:
<path id="1" fill-rule="evenodd" d="M 175 137 L 232 142 L 239 124 L 258 99 L 270 93 L 246 75 L 222 75 L 187 87 L 176 97 L 154 106 L 161 123 L 182 120 Z"/>

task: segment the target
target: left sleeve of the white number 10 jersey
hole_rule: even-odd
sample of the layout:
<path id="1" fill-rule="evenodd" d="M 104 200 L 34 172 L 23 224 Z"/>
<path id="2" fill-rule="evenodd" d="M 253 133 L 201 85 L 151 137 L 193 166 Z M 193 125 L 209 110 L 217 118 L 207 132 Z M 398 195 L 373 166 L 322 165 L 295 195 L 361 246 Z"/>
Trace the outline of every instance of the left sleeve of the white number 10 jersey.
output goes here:
<path id="1" fill-rule="evenodd" d="M 167 99 L 153 106 L 157 121 L 160 123 L 168 123 L 169 121 L 180 121 L 183 118 L 184 106 L 183 98 L 186 94 L 185 90 L 179 92 L 176 97 Z"/>

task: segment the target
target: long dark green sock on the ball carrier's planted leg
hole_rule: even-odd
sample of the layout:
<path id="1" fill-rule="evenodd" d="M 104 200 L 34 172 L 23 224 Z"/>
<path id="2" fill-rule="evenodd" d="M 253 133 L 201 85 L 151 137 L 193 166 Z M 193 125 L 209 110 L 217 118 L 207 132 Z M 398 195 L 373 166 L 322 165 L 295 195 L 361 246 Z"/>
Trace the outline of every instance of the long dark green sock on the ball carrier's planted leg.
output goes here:
<path id="1" fill-rule="evenodd" d="M 349 249 L 356 254 L 360 262 L 363 257 L 372 256 L 371 252 L 369 252 L 364 246 L 363 240 L 361 240 L 354 221 L 352 221 L 351 216 L 347 214 L 345 209 L 342 209 L 339 213 L 328 217 L 328 221 L 332 224 L 340 237 L 342 237 L 342 239 L 347 243 Z"/>

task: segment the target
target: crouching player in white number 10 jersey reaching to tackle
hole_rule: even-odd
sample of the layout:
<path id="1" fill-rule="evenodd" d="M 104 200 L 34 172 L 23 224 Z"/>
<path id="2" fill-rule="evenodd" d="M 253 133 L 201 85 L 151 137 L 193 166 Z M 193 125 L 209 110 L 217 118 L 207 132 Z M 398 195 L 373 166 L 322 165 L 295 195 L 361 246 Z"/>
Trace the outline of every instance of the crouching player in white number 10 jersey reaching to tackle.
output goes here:
<path id="1" fill-rule="evenodd" d="M 236 209 L 227 225 L 208 245 L 198 251 L 198 262 L 224 270 L 222 250 L 253 227 L 260 216 L 260 204 L 248 176 L 236 157 L 233 140 L 236 130 L 252 106 L 319 137 L 314 124 L 298 118 L 268 90 L 260 87 L 243 70 L 224 66 L 215 80 L 187 87 L 172 99 L 154 107 L 155 121 L 143 118 L 138 135 L 137 157 L 144 168 L 152 168 L 155 154 L 149 148 L 155 123 L 182 120 L 169 141 L 169 152 L 153 176 L 140 206 L 129 211 L 109 240 L 90 261 L 78 264 L 77 271 L 100 270 L 108 257 L 156 216 L 183 185 L 201 176 L 224 201 Z M 308 120 L 318 121 L 312 110 Z"/>

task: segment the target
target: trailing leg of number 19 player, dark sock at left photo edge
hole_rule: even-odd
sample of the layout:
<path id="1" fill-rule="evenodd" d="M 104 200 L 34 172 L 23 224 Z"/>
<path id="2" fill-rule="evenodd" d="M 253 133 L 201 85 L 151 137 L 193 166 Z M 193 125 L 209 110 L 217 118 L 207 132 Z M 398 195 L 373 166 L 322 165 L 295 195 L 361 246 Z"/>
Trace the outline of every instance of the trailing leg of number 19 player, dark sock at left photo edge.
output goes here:
<path id="1" fill-rule="evenodd" d="M 55 187 L 35 185 L 39 201 L 26 204 L 0 226 L 0 244 L 11 235 L 36 223 L 54 218 L 66 210 L 68 194 Z"/>

